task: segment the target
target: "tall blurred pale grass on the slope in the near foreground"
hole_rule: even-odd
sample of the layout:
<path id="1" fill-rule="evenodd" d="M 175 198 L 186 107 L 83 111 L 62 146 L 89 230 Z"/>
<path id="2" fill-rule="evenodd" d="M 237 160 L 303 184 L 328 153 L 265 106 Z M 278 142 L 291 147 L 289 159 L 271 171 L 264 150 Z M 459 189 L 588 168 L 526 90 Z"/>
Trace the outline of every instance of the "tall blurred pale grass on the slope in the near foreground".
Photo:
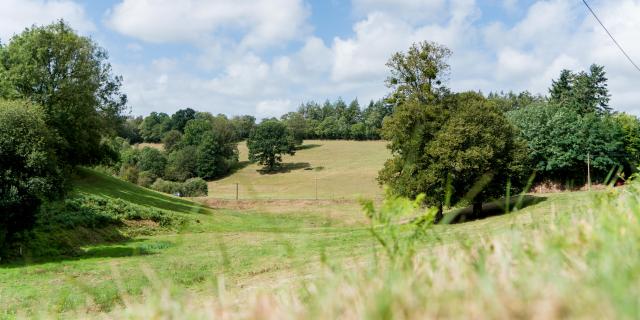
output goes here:
<path id="1" fill-rule="evenodd" d="M 415 210 L 406 202 L 379 209 L 369 205 L 367 212 L 389 218 Z M 594 193 L 572 210 L 554 211 L 543 220 L 531 218 L 527 224 L 513 219 L 510 228 L 498 233 L 467 234 L 447 242 L 438 240 L 447 226 L 430 227 L 415 237 L 410 224 L 373 220 L 374 236 L 377 232 L 398 248 L 378 250 L 373 263 L 337 267 L 327 262 L 313 279 L 297 285 L 234 296 L 226 293 L 223 278 L 204 298 L 172 293 L 170 284 L 158 282 L 143 300 L 136 300 L 142 303 L 125 299 L 126 305 L 109 316 L 640 318 L 639 183 Z M 394 262 L 399 260 L 407 263 Z"/>

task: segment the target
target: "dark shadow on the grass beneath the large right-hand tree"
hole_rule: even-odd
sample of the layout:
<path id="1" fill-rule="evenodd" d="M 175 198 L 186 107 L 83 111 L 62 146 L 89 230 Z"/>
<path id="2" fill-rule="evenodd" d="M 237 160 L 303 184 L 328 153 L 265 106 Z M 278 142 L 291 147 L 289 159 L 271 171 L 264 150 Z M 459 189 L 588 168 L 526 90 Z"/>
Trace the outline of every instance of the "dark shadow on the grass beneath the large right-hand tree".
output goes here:
<path id="1" fill-rule="evenodd" d="M 523 208 L 538 204 L 547 200 L 546 197 L 525 195 L 522 197 L 514 197 L 509 201 L 509 212 L 513 210 L 521 210 Z M 499 216 L 507 213 L 506 199 L 499 199 L 489 203 L 482 204 L 482 211 L 478 215 L 473 214 L 473 206 L 457 209 L 445 214 L 444 221 L 449 223 L 463 223 L 474 220 L 485 219 L 493 216 Z"/>

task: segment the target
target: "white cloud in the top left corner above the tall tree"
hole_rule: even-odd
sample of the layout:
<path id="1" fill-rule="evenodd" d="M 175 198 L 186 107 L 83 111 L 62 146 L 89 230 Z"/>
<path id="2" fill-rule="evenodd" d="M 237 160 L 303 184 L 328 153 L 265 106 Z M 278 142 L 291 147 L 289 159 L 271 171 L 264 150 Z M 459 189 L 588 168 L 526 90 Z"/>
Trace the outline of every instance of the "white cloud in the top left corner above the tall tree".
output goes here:
<path id="1" fill-rule="evenodd" d="M 27 27 L 46 25 L 59 19 L 64 19 L 81 33 L 95 29 L 84 8 L 73 1 L 1 0 L 0 8 L 0 39 L 5 43 Z"/>

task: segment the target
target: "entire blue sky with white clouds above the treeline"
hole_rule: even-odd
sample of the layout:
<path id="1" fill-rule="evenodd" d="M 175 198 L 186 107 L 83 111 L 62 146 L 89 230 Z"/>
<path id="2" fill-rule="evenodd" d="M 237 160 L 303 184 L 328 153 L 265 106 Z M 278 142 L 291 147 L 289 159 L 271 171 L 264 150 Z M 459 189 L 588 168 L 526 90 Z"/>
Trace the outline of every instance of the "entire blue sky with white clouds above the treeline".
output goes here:
<path id="1" fill-rule="evenodd" d="M 588 2 L 640 63 L 640 0 Z M 611 106 L 640 115 L 640 71 L 581 0 L 0 0 L 0 41 L 61 18 L 109 52 L 132 115 L 366 104 L 389 92 L 389 57 L 423 40 L 453 51 L 454 91 L 546 94 L 560 70 L 597 63 Z"/>

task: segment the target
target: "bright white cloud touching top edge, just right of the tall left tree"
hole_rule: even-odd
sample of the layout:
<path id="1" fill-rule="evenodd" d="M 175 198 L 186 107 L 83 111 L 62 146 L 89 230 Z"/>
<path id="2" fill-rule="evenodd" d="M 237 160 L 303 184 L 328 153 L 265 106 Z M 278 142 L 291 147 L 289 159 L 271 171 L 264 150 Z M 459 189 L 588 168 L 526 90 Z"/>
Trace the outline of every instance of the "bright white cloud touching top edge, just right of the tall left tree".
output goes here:
<path id="1" fill-rule="evenodd" d="M 241 45 L 264 47 L 306 31 L 301 0 L 124 0 L 108 15 L 116 31 L 148 42 L 211 42 L 242 33 Z"/>

